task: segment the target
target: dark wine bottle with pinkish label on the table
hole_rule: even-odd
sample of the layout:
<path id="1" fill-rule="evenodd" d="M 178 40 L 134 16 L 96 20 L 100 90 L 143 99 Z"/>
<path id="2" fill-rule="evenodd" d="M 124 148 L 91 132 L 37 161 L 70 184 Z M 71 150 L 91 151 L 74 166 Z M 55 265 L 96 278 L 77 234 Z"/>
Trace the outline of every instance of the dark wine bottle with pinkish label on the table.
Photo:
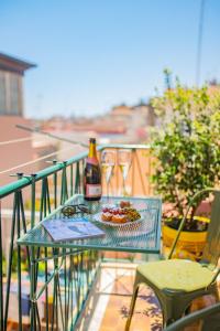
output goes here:
<path id="1" fill-rule="evenodd" d="M 97 158 L 96 139 L 89 139 L 89 153 L 84 175 L 84 197 L 87 201 L 101 199 L 101 170 Z"/>

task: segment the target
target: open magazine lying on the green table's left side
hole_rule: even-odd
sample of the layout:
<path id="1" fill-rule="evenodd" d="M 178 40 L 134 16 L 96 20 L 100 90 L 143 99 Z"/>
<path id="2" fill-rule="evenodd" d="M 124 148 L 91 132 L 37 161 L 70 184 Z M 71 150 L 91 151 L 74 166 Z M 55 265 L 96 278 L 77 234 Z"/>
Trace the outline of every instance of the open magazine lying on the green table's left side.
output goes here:
<path id="1" fill-rule="evenodd" d="M 103 237 L 106 234 L 99 227 L 84 217 L 73 220 L 53 218 L 43 221 L 42 225 L 54 242 Z"/>

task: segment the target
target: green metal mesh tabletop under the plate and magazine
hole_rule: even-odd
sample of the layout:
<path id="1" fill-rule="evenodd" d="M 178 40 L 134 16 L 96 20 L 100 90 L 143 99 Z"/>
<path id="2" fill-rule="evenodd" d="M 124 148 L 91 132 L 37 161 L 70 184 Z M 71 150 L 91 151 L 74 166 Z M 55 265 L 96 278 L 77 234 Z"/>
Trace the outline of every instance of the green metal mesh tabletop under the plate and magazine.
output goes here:
<path id="1" fill-rule="evenodd" d="M 105 222 L 97 221 L 97 213 L 100 213 L 103 205 L 119 205 L 120 201 L 129 200 L 132 207 L 141 213 L 141 221 L 128 223 L 119 226 L 109 226 Z M 75 195 L 69 204 L 86 203 L 81 195 Z M 99 203 L 86 203 L 90 210 L 90 214 L 79 213 L 72 217 L 65 217 L 61 210 L 46 218 L 54 220 L 72 220 L 73 222 L 82 216 L 88 222 L 105 232 L 103 237 L 94 237 L 86 239 L 73 239 L 65 242 L 54 242 L 50 234 L 45 231 L 42 222 L 30 229 L 25 235 L 18 239 L 19 245 L 53 247 L 53 248 L 80 248 L 80 249 L 100 249 L 116 252 L 132 253 L 160 253 L 161 247 L 161 217 L 162 201 L 160 197 L 102 197 Z"/>

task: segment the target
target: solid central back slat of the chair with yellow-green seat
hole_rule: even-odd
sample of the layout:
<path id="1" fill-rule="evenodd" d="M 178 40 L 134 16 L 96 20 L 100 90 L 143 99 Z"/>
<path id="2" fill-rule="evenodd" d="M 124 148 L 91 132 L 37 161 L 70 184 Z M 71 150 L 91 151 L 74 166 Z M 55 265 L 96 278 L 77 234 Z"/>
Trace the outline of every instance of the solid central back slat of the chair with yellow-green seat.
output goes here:
<path id="1" fill-rule="evenodd" d="M 211 216 L 202 260 L 216 266 L 220 257 L 220 191 L 213 190 Z"/>

